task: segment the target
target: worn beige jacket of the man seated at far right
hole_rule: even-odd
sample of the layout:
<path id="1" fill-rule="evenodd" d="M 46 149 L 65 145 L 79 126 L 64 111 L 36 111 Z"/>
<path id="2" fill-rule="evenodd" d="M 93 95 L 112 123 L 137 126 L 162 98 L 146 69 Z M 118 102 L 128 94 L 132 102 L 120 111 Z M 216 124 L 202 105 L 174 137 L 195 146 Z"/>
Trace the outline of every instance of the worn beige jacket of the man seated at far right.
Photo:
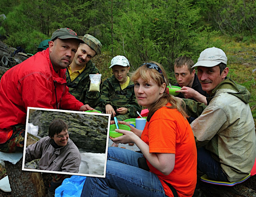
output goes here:
<path id="1" fill-rule="evenodd" d="M 208 142 L 204 147 L 220 161 L 228 180 L 237 181 L 250 173 L 256 157 L 254 120 L 248 102 L 244 101 L 245 95 L 236 95 L 241 90 L 215 91 L 191 127 L 197 141 Z"/>

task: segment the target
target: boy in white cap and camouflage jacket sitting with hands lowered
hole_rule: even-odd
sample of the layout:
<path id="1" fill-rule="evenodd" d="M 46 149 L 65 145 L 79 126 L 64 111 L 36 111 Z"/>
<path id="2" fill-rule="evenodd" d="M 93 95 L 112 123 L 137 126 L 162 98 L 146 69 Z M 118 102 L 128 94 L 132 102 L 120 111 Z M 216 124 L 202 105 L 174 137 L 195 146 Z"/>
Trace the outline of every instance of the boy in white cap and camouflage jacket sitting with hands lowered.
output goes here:
<path id="1" fill-rule="evenodd" d="M 137 111 L 141 111 L 133 91 L 134 84 L 127 75 L 130 64 L 126 57 L 117 55 L 111 60 L 113 76 L 106 79 L 102 85 L 102 110 L 117 120 L 137 118 Z"/>

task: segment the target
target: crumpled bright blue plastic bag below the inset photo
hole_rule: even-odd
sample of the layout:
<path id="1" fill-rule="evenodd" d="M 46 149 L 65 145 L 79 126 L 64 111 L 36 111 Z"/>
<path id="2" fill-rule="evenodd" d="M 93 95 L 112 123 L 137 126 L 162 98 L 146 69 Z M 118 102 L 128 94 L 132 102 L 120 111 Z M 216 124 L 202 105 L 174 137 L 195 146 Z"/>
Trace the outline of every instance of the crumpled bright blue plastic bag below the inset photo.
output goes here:
<path id="1" fill-rule="evenodd" d="M 61 186 L 55 190 L 55 197 L 77 197 L 81 196 L 85 176 L 73 175 L 64 179 Z"/>

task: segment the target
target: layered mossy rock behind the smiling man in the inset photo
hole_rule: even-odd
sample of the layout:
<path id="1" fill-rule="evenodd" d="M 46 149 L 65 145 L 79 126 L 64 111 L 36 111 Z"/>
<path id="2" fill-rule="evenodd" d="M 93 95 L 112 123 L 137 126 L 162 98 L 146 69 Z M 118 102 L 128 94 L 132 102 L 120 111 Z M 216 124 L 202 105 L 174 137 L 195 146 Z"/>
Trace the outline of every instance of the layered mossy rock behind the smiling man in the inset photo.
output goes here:
<path id="1" fill-rule="evenodd" d="M 108 116 L 81 113 L 64 113 L 44 110 L 31 110 L 29 122 L 38 125 L 38 136 L 48 135 L 48 127 L 54 118 L 68 125 L 70 139 L 79 149 L 88 152 L 105 153 L 108 131 Z"/>

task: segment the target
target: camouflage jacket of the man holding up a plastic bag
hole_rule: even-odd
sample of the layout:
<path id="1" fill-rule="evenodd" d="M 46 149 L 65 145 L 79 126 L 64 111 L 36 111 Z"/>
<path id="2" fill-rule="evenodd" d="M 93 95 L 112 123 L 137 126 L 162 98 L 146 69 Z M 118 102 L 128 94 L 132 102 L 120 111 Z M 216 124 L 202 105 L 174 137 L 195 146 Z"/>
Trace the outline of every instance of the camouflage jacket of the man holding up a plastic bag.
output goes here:
<path id="1" fill-rule="evenodd" d="M 72 82 L 70 80 L 68 69 L 66 71 L 67 86 L 70 94 L 74 95 L 77 100 L 84 104 L 88 104 L 92 108 L 96 107 L 100 101 L 100 92 L 89 92 L 90 77 L 89 74 L 96 74 L 100 71 L 95 67 L 94 63 L 89 61 L 83 72 L 78 75 Z"/>

